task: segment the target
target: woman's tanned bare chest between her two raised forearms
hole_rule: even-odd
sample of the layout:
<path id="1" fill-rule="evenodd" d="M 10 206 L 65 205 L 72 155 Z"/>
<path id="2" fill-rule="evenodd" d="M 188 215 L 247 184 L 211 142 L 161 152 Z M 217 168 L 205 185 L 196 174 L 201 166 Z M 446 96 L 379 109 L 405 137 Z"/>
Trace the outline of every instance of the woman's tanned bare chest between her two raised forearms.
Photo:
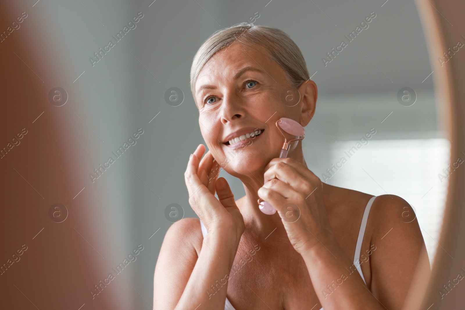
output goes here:
<path id="1" fill-rule="evenodd" d="M 286 236 L 276 237 L 282 240 L 258 241 L 243 235 L 227 288 L 236 310 L 308 309 L 318 303 L 303 258 Z"/>

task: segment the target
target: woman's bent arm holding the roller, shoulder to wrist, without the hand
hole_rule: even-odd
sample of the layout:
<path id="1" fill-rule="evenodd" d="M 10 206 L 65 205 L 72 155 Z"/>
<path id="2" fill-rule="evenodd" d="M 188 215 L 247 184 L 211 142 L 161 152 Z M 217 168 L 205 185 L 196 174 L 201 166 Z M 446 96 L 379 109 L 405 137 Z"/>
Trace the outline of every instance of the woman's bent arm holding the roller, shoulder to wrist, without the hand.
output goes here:
<path id="1" fill-rule="evenodd" d="M 321 240 L 302 254 L 325 310 L 402 308 L 425 244 L 417 220 L 405 223 L 399 217 L 404 207 L 413 214 L 404 199 L 383 195 L 377 200 L 377 210 L 370 217 L 376 229 L 373 236 L 365 236 L 372 238 L 362 263 L 370 264 L 368 288 L 335 239 Z"/>

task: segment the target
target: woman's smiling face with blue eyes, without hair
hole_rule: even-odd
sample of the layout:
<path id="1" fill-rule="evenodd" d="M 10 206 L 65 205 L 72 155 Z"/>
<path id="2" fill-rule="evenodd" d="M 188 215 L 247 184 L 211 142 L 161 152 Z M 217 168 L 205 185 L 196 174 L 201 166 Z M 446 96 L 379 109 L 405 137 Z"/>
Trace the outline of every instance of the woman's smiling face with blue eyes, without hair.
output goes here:
<path id="1" fill-rule="evenodd" d="M 195 84 L 195 99 L 202 136 L 224 170 L 247 175 L 279 157 L 284 138 L 275 125 L 278 119 L 307 125 L 311 117 L 302 124 L 302 103 L 291 106 L 281 99 L 288 89 L 286 73 L 260 46 L 234 43 L 208 60 Z M 249 134 L 240 142 L 234 139 Z"/>

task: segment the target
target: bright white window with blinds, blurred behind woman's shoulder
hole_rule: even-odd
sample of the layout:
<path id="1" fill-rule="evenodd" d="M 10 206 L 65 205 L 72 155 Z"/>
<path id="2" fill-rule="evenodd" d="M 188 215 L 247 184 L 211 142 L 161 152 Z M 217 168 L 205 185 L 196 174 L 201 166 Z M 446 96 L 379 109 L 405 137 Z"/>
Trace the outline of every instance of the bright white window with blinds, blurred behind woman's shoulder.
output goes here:
<path id="1" fill-rule="evenodd" d="M 445 251 L 438 246 L 438 240 L 448 184 L 443 169 L 449 168 L 449 140 L 371 140 L 352 151 L 349 158 L 347 151 L 357 142 L 333 143 L 332 164 L 339 162 L 342 167 L 327 174 L 327 183 L 377 196 L 393 194 L 404 198 L 416 210 L 432 264 L 435 252 Z M 344 164 L 340 163 L 342 157 L 346 159 Z"/>

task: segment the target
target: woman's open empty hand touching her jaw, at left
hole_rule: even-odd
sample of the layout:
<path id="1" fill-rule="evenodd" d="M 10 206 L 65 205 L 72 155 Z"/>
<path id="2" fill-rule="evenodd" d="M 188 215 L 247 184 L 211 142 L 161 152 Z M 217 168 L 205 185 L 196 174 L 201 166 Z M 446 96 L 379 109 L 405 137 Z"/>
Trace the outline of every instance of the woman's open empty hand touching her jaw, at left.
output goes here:
<path id="1" fill-rule="evenodd" d="M 217 231 L 235 236 L 239 244 L 244 232 L 244 219 L 225 178 L 218 178 L 219 164 L 200 144 L 189 158 L 184 178 L 189 191 L 189 204 L 208 232 Z M 202 158 L 199 162 L 199 158 Z M 218 178 L 218 179 L 217 179 Z M 215 197 L 215 190 L 218 199 Z M 234 235 L 232 235 L 234 233 Z"/>

